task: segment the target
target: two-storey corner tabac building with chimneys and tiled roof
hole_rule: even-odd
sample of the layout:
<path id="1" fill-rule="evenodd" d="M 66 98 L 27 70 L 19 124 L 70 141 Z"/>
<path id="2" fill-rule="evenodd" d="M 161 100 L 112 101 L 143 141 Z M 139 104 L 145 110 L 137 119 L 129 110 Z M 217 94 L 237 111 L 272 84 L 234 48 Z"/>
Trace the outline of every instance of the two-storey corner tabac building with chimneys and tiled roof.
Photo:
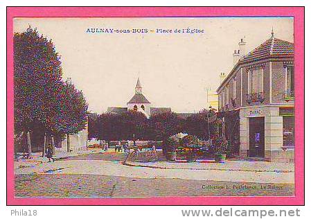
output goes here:
<path id="1" fill-rule="evenodd" d="M 226 137 L 240 157 L 294 162 L 294 44 L 271 37 L 245 55 L 233 53 L 233 69 L 217 89 Z"/>

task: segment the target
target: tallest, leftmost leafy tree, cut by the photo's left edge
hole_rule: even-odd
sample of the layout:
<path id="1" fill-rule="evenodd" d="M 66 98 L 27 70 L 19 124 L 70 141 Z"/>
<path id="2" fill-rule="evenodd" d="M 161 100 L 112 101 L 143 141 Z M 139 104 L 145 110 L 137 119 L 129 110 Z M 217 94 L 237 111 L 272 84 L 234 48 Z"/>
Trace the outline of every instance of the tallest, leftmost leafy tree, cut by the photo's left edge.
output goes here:
<path id="1" fill-rule="evenodd" d="M 15 133 L 27 133 L 31 155 L 31 130 L 45 130 L 62 82 L 60 55 L 51 40 L 29 27 L 14 34 Z"/>

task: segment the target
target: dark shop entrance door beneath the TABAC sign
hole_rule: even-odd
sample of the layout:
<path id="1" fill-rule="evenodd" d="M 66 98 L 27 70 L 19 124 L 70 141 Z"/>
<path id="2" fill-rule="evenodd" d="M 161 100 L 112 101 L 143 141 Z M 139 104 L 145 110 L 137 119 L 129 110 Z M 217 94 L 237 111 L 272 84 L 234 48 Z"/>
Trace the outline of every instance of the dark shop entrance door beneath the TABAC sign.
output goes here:
<path id="1" fill-rule="evenodd" d="M 249 157 L 265 158 L 265 117 L 249 118 Z"/>

